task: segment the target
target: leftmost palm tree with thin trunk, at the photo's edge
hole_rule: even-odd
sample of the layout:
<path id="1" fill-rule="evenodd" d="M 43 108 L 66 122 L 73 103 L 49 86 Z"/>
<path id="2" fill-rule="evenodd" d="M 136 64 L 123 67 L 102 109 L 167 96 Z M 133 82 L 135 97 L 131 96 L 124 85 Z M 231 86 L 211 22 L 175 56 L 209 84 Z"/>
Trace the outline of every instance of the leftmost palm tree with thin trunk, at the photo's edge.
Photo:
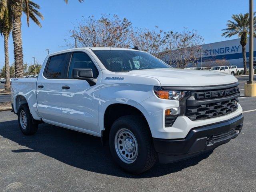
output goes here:
<path id="1" fill-rule="evenodd" d="M 4 9 L 2 12 L 2 16 L 0 17 L 0 33 L 4 36 L 4 66 L 5 66 L 5 90 L 10 90 L 10 67 L 9 67 L 9 36 L 12 30 L 12 19 L 10 17 L 10 5 L 8 1 L 0 2 L 0 7 L 6 6 L 7 8 Z"/>

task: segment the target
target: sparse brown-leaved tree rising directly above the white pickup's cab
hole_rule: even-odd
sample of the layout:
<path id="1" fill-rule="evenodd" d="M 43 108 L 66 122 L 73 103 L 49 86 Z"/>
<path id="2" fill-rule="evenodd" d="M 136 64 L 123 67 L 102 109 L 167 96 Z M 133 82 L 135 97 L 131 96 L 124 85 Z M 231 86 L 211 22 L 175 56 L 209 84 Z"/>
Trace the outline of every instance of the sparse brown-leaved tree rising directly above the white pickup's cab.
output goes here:
<path id="1" fill-rule="evenodd" d="M 70 33 L 78 40 L 80 47 L 130 47 L 131 22 L 117 15 L 110 18 L 102 15 L 96 20 L 94 16 L 85 17 Z M 74 47 L 66 40 L 67 46 Z"/>

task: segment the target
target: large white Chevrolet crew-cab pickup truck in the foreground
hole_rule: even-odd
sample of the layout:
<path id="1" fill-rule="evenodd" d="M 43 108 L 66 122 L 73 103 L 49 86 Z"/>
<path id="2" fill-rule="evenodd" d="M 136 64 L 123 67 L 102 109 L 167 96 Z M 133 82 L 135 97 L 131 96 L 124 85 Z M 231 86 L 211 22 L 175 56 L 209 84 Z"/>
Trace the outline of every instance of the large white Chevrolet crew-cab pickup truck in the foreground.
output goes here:
<path id="1" fill-rule="evenodd" d="M 243 126 L 235 77 L 173 69 L 133 49 L 50 54 L 38 78 L 12 80 L 11 94 L 25 135 L 46 122 L 101 137 L 133 174 L 213 150 Z"/>

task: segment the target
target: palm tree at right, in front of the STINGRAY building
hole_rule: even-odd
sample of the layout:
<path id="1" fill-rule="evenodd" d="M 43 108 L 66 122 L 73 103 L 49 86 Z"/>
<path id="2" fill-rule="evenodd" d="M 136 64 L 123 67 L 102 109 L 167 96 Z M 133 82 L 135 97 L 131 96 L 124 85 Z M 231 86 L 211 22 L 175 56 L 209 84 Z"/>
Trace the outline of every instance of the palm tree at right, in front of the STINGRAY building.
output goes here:
<path id="1" fill-rule="evenodd" d="M 256 27 L 256 17 L 254 16 L 254 30 Z M 244 61 L 244 74 L 246 74 L 246 49 L 247 36 L 249 34 L 249 14 L 233 14 L 232 20 L 228 20 L 227 28 L 222 31 L 222 36 L 232 37 L 238 35 L 240 37 L 240 44 L 242 46 L 243 61 Z M 254 32 L 255 33 L 255 32 Z"/>

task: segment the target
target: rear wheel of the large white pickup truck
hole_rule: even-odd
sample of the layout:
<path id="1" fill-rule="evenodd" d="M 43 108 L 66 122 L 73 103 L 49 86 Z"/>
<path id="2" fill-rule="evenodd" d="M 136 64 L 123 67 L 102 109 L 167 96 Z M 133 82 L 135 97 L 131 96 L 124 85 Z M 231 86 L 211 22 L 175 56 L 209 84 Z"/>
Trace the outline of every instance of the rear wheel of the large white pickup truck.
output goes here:
<path id="1" fill-rule="evenodd" d="M 24 113 L 23 113 L 24 112 Z M 24 123 L 24 116 L 22 118 L 22 114 L 26 115 L 26 123 Z M 33 124 L 32 115 L 28 108 L 28 104 L 22 104 L 18 110 L 18 123 L 20 126 L 20 130 L 24 135 L 33 135 L 38 130 L 38 124 Z M 25 126 L 26 124 L 26 126 Z"/>

